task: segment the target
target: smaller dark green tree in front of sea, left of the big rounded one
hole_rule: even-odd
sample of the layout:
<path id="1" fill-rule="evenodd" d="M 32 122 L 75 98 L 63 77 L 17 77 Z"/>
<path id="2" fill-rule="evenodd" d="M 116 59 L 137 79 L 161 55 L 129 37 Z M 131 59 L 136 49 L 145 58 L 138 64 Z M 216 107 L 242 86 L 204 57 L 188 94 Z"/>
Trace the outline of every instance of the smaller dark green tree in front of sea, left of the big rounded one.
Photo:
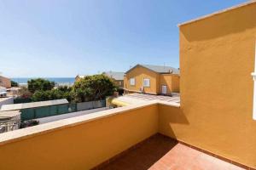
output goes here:
<path id="1" fill-rule="evenodd" d="M 37 90 L 46 91 L 55 87 L 55 82 L 49 82 L 43 78 L 31 79 L 27 81 L 27 88 L 33 94 Z"/>

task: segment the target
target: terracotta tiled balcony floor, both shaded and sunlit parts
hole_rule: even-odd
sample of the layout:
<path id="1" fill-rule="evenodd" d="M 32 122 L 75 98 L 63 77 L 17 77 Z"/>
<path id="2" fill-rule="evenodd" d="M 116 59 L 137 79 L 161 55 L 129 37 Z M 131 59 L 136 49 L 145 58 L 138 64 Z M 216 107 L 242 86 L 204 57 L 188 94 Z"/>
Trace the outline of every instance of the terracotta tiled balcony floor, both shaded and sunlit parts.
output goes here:
<path id="1" fill-rule="evenodd" d="M 176 140 L 157 134 L 111 161 L 104 170 L 242 170 Z"/>

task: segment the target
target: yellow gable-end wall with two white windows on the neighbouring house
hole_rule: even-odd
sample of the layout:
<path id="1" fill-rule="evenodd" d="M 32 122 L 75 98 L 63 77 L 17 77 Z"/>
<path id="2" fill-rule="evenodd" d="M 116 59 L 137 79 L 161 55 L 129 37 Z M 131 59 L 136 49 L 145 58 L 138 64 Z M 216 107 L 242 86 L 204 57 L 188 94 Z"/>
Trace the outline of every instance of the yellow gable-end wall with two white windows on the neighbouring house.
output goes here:
<path id="1" fill-rule="evenodd" d="M 135 86 L 130 85 L 130 78 L 135 78 Z M 154 71 L 149 71 L 142 66 L 137 66 L 133 70 L 129 71 L 124 79 L 124 88 L 131 91 L 139 91 L 143 87 L 143 78 L 150 79 L 150 87 L 144 88 L 144 92 L 148 94 L 157 94 L 159 90 L 160 75 Z"/>

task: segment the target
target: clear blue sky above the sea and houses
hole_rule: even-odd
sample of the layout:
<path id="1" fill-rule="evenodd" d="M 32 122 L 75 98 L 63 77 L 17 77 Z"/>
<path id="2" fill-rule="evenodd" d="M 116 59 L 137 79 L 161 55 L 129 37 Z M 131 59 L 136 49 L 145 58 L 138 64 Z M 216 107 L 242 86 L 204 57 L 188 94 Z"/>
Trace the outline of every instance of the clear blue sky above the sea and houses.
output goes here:
<path id="1" fill-rule="evenodd" d="M 242 0 L 0 0 L 0 72 L 75 77 L 179 67 L 177 24 Z"/>

